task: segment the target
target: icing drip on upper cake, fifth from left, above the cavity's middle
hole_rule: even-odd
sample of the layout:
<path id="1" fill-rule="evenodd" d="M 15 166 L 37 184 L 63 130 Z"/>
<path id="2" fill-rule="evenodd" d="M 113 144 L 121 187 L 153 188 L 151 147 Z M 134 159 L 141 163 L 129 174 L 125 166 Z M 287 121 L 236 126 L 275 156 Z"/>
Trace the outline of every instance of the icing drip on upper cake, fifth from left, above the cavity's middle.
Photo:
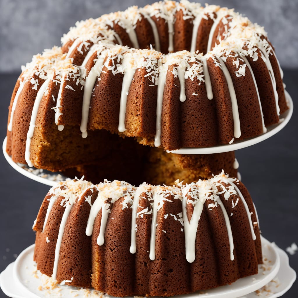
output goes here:
<path id="1" fill-rule="evenodd" d="M 134 77 L 134 73 L 136 72 L 136 68 L 131 66 L 131 55 L 124 55 L 122 60 L 122 66 L 125 69 L 125 73 L 122 80 L 122 88 L 121 88 L 121 96 L 120 96 L 120 109 L 119 109 L 119 125 L 118 131 L 123 132 L 126 130 L 125 128 L 125 113 L 126 113 L 126 103 L 127 103 L 127 95 L 129 88 L 131 86 L 131 82 Z"/>

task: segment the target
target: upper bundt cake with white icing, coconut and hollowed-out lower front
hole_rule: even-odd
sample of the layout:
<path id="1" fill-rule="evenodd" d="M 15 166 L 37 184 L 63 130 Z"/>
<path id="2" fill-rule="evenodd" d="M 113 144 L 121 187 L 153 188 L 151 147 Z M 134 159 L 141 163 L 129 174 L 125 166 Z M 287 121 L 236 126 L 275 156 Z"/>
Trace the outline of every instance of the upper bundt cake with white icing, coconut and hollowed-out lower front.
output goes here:
<path id="1" fill-rule="evenodd" d="M 266 32 L 233 10 L 186 0 L 130 7 L 77 22 L 62 47 L 22 68 L 7 153 L 37 168 L 86 172 L 110 151 L 128 161 L 255 137 L 288 109 L 282 76 Z M 127 140 L 128 150 L 117 135 L 153 148 Z"/>

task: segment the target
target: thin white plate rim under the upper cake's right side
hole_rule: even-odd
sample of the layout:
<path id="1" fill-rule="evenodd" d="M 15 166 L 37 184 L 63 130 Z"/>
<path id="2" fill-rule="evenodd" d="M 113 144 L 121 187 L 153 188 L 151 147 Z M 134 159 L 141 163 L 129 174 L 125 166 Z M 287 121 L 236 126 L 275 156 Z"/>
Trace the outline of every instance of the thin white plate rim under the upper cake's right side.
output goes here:
<path id="1" fill-rule="evenodd" d="M 222 153 L 222 152 L 229 152 L 235 151 L 238 149 L 246 148 L 252 146 L 254 144 L 260 143 L 274 134 L 277 134 L 280 130 L 282 130 L 285 125 L 290 121 L 292 114 L 293 114 L 293 100 L 285 90 L 285 98 L 288 104 L 289 109 L 280 115 L 280 121 L 277 124 L 271 125 L 267 127 L 267 132 L 261 134 L 260 136 L 256 136 L 254 138 L 245 139 L 242 141 L 234 141 L 232 144 L 226 145 L 218 145 L 213 147 L 204 147 L 204 148 L 181 148 L 178 150 L 172 150 L 167 152 L 172 153 L 179 153 L 179 154 L 211 154 L 211 153 Z"/>

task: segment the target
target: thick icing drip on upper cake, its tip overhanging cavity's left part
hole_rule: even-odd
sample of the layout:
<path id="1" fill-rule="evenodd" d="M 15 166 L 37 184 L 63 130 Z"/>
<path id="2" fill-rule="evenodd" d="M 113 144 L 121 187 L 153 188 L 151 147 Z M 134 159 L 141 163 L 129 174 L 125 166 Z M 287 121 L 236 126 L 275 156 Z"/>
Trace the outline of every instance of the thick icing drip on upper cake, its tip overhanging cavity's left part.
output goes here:
<path id="1" fill-rule="evenodd" d="M 87 124 L 88 124 L 88 117 L 89 117 L 91 95 L 94 89 L 94 84 L 96 83 L 97 78 L 100 77 L 100 74 L 103 68 L 104 59 L 105 59 L 105 56 L 100 55 L 100 57 L 97 59 L 94 66 L 90 70 L 88 77 L 86 77 L 84 94 L 83 94 L 82 120 L 80 125 L 80 131 L 82 132 L 83 138 L 86 138 L 88 135 Z"/>

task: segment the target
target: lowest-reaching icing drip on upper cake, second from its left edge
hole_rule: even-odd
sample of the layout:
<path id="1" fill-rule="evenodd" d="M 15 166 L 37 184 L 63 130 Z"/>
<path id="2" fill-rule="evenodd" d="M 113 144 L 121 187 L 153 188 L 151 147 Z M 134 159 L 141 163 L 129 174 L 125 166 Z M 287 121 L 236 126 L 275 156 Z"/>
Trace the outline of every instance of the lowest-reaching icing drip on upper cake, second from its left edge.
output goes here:
<path id="1" fill-rule="evenodd" d="M 35 121 L 38 113 L 38 108 L 41 103 L 41 99 L 44 96 L 44 92 L 49 86 L 51 79 L 46 79 L 45 82 L 41 85 L 40 89 L 37 92 L 33 109 L 32 109 L 32 114 L 31 114 L 31 119 L 30 119 L 30 124 L 29 124 L 29 129 L 27 132 L 27 139 L 26 139 L 26 149 L 25 149 L 25 160 L 28 164 L 29 167 L 33 167 L 34 164 L 30 160 L 30 145 L 31 145 L 31 139 L 33 137 L 34 133 L 34 128 L 35 128 Z"/>

